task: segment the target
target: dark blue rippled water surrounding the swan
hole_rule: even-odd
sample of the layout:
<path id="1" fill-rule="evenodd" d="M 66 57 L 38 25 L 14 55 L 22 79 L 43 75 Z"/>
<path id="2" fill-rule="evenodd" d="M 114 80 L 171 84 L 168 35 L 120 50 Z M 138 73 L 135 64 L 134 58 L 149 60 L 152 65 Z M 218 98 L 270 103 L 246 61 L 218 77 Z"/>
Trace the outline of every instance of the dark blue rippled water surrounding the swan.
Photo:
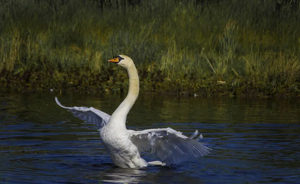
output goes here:
<path id="1" fill-rule="evenodd" d="M 119 95 L 59 95 L 64 105 L 109 114 Z M 93 124 L 60 108 L 52 93 L 0 94 L 0 183 L 297 183 L 300 100 L 140 95 L 130 129 L 195 129 L 208 156 L 176 167 L 113 166 Z M 147 161 L 155 155 L 144 153 Z"/>

